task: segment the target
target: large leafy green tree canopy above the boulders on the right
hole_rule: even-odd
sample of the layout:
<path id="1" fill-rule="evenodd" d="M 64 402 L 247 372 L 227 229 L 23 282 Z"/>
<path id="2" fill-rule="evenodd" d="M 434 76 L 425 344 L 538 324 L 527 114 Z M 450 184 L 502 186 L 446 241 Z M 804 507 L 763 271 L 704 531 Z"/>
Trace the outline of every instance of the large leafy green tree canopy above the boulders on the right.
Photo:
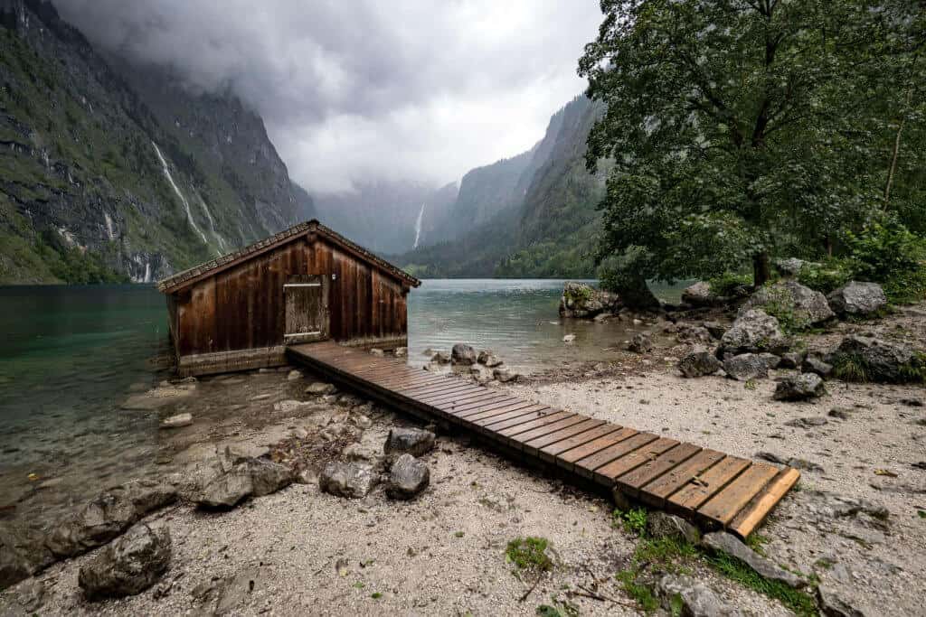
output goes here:
<path id="1" fill-rule="evenodd" d="M 830 252 L 840 229 L 893 199 L 888 175 L 901 170 L 888 153 L 898 125 L 912 133 L 921 118 L 922 3 L 601 7 L 579 64 L 588 95 L 607 104 L 587 165 L 615 161 L 599 259 L 630 255 L 625 267 L 669 280 L 751 263 L 762 284 L 772 254 Z M 902 154 L 906 191 L 923 154 Z"/>

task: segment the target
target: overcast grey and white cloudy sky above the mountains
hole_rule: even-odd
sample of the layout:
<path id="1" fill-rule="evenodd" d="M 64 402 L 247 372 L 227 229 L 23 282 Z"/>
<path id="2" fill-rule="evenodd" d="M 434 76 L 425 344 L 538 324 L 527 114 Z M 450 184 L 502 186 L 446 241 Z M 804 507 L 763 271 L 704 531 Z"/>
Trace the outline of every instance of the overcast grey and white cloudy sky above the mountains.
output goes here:
<path id="1" fill-rule="evenodd" d="M 597 0 L 55 0 L 97 45 L 231 84 L 296 181 L 444 184 L 519 154 L 584 88 Z"/>

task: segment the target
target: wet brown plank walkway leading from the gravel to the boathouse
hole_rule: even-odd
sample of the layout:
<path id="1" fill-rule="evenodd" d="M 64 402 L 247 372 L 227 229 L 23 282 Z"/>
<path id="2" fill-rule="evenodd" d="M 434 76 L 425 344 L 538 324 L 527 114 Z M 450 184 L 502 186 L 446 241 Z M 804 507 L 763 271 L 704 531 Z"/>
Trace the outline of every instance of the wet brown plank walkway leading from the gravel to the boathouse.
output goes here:
<path id="1" fill-rule="evenodd" d="M 326 341 L 287 348 L 289 359 L 419 417 L 443 420 L 708 528 L 747 537 L 800 474 L 716 450 L 551 409 L 457 376 Z"/>

